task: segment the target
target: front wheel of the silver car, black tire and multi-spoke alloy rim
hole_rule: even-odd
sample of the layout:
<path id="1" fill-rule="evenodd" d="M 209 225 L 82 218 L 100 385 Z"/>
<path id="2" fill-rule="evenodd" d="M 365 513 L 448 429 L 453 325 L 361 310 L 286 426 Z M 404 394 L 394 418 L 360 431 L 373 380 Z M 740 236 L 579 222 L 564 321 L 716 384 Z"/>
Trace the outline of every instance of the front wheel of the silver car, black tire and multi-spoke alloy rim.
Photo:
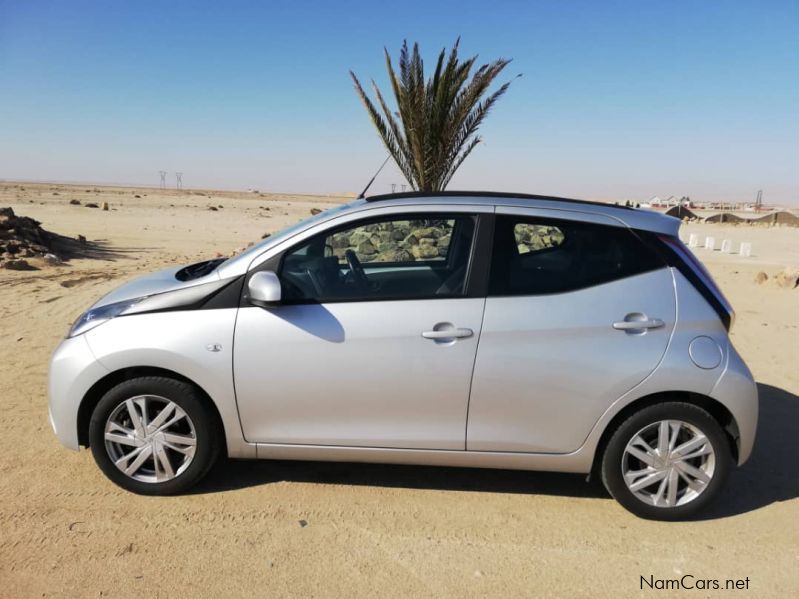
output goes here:
<path id="1" fill-rule="evenodd" d="M 190 489 L 214 465 L 221 439 L 220 423 L 197 388 L 160 376 L 116 385 L 89 422 L 97 465 L 114 483 L 141 495 Z"/>

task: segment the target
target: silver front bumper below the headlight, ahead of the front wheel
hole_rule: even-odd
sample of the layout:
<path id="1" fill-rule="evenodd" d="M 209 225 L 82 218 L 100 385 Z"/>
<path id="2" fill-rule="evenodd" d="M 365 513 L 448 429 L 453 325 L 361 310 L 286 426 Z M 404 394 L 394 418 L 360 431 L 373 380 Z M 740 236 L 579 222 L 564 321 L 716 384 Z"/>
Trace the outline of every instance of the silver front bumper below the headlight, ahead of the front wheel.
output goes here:
<path id="1" fill-rule="evenodd" d="M 78 409 L 98 380 L 108 374 L 94 357 L 86 335 L 64 339 L 50 358 L 50 425 L 64 447 L 79 449 Z"/>

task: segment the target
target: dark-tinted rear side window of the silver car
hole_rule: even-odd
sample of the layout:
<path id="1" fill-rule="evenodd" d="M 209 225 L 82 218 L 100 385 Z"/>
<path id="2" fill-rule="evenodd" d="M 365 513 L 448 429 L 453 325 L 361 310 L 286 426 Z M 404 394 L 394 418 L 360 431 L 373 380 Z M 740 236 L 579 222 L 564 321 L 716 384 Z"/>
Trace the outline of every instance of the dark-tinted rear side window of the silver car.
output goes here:
<path id="1" fill-rule="evenodd" d="M 490 295 L 543 295 L 601 285 L 665 267 L 630 230 L 498 215 Z"/>

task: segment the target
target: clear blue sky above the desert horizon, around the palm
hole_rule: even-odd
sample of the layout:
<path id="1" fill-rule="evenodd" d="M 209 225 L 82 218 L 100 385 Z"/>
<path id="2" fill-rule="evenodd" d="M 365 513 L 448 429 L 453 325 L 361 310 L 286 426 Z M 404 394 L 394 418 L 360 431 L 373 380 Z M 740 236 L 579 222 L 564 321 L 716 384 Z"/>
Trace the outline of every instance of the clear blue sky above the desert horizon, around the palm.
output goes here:
<path id="1" fill-rule="evenodd" d="M 0 0 L 0 178 L 359 191 L 348 70 L 461 36 L 523 77 L 451 189 L 799 203 L 798 31 L 795 1 Z"/>

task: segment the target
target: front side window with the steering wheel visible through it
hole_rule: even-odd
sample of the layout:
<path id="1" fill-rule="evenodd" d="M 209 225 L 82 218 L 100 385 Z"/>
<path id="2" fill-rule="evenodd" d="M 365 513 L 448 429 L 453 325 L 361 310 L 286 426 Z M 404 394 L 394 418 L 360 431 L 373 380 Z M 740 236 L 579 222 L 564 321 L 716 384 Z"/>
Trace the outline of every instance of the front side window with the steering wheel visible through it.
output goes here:
<path id="1" fill-rule="evenodd" d="M 464 295 L 472 215 L 359 221 L 306 240 L 283 257 L 289 302 L 424 299 Z"/>

